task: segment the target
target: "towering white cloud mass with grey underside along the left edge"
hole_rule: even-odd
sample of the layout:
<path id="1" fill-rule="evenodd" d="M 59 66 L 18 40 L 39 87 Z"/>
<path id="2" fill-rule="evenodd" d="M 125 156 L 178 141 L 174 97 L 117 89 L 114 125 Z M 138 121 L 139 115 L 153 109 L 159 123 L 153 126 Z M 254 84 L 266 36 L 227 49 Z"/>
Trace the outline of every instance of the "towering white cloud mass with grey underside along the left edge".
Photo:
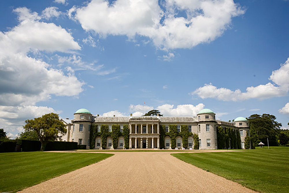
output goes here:
<path id="1" fill-rule="evenodd" d="M 15 132 L 23 130 L 25 119 L 55 112 L 50 107 L 36 106 L 37 102 L 51 95 L 77 96 L 84 83 L 71 68 L 56 69 L 29 54 L 80 50 L 72 35 L 54 23 L 40 22 L 38 13 L 27 8 L 14 12 L 18 25 L 0 31 L 0 127 L 15 137 Z M 48 17 L 49 11 L 43 13 Z"/>

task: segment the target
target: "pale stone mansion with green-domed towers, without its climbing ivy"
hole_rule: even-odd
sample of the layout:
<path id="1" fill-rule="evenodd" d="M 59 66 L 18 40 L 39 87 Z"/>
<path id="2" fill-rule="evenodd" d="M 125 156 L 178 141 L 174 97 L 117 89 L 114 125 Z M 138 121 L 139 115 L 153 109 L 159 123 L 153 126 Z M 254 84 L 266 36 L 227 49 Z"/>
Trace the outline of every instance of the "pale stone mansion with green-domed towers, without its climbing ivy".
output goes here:
<path id="1" fill-rule="evenodd" d="M 165 116 L 127 116 L 127 117 L 101 117 L 93 116 L 86 109 L 79 109 L 74 113 L 74 119 L 62 119 L 67 128 L 67 133 L 62 136 L 62 141 L 78 142 L 78 144 L 90 146 L 90 128 L 97 125 L 97 132 L 100 132 L 101 125 L 108 125 L 109 132 L 112 125 L 120 125 L 120 132 L 124 125 L 129 128 L 129 149 L 149 148 L 160 149 L 160 126 L 165 126 L 166 132 L 170 131 L 170 125 L 177 126 L 177 132 L 181 132 L 181 125 L 186 127 L 189 133 L 188 146 L 183 146 L 181 136 L 176 137 L 175 147 L 178 149 L 190 149 L 194 146 L 193 133 L 199 136 L 199 149 L 218 149 L 217 127 L 230 128 L 240 132 L 241 148 L 244 149 L 244 141 L 249 132 L 248 120 L 238 117 L 234 122 L 227 122 L 215 119 L 215 113 L 210 109 L 201 110 L 196 117 L 165 117 Z M 249 133 L 248 133 L 249 134 Z M 101 137 L 95 139 L 95 148 L 101 149 Z M 117 149 L 124 149 L 124 137 L 118 138 Z M 171 138 L 164 138 L 165 149 L 171 149 Z M 112 137 L 106 139 L 106 149 L 113 149 Z"/>

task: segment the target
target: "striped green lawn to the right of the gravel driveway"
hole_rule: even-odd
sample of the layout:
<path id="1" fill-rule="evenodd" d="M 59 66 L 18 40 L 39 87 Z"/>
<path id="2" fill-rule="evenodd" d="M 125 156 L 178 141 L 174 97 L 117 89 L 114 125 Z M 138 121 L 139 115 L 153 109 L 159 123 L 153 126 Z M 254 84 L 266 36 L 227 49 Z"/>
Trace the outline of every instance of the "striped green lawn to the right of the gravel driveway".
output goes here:
<path id="1" fill-rule="evenodd" d="M 289 192 L 289 147 L 172 155 L 252 190 Z"/>

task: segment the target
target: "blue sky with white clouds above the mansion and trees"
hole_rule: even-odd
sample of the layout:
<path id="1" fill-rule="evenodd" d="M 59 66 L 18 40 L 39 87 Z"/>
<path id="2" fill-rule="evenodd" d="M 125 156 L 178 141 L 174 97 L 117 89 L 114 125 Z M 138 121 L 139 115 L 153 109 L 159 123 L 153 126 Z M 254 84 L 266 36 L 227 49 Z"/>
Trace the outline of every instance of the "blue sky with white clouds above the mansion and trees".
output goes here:
<path id="1" fill-rule="evenodd" d="M 73 118 L 273 114 L 289 121 L 289 1 L 2 1 L 0 127 Z M 145 101 L 145 105 L 144 105 Z"/>

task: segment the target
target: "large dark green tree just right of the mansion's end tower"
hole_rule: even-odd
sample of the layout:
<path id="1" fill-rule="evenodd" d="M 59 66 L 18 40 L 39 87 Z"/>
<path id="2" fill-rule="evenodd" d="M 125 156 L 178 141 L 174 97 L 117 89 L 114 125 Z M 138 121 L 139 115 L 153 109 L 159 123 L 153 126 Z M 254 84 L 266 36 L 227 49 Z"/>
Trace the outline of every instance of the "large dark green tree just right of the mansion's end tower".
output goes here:
<path id="1" fill-rule="evenodd" d="M 276 117 L 270 114 L 253 114 L 251 115 L 249 120 L 250 131 L 251 133 L 256 133 L 257 139 L 256 142 L 262 141 L 267 145 L 267 138 L 269 144 L 272 146 L 277 146 L 277 136 L 278 131 L 282 126 L 281 123 L 275 121 Z"/>

